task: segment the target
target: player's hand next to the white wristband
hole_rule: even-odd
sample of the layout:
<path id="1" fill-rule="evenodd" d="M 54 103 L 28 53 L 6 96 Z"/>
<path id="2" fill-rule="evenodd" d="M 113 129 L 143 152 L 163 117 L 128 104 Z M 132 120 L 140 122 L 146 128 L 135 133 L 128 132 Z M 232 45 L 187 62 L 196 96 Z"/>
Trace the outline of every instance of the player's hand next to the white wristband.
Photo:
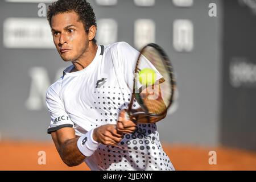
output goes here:
<path id="1" fill-rule="evenodd" d="M 123 139 L 123 135 L 118 133 L 117 125 L 102 125 L 93 131 L 93 139 L 105 145 L 116 146 Z"/>

